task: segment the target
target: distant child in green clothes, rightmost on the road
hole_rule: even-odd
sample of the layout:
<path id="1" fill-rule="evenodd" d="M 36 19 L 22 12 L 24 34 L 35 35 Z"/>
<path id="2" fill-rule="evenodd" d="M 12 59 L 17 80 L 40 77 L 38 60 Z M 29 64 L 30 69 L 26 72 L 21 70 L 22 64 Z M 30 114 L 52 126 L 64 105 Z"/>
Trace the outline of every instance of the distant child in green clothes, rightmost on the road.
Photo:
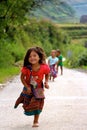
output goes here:
<path id="1" fill-rule="evenodd" d="M 56 50 L 56 56 L 59 59 L 57 64 L 57 70 L 60 67 L 61 75 L 63 75 L 63 56 L 61 55 L 61 51 L 59 49 Z"/>

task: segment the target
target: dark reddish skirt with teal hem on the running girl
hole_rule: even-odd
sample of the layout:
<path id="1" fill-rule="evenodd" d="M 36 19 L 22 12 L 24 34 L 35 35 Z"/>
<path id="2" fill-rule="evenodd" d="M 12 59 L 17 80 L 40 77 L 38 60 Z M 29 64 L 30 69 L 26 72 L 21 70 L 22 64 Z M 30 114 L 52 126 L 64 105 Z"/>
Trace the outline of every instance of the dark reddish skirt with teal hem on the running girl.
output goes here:
<path id="1" fill-rule="evenodd" d="M 44 99 L 35 99 L 32 94 L 27 94 L 25 89 L 24 87 L 24 91 L 16 100 L 14 108 L 17 108 L 17 106 L 22 103 L 25 115 L 31 116 L 40 114 L 44 106 Z"/>

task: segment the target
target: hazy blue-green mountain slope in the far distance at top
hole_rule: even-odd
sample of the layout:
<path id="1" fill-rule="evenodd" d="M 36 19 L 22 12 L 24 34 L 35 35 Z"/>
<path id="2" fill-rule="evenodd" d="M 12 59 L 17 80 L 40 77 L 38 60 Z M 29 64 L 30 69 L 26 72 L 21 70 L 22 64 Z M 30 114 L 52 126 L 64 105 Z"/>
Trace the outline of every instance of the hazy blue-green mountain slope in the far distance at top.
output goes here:
<path id="1" fill-rule="evenodd" d="M 79 22 L 80 17 L 87 14 L 87 0 L 45 0 L 31 13 L 39 19 L 58 23 Z"/>

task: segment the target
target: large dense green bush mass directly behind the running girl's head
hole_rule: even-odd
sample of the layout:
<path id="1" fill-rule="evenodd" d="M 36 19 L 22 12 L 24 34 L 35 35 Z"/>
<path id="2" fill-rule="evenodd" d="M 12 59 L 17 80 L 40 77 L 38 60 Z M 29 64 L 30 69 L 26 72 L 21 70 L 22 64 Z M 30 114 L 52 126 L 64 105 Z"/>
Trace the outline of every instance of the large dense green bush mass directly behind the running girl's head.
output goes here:
<path id="1" fill-rule="evenodd" d="M 58 26 L 49 21 L 37 21 L 31 19 L 24 25 L 24 31 L 29 37 L 29 42 L 26 42 L 27 45 L 30 43 L 30 45 L 41 46 L 47 55 L 50 54 L 52 48 L 61 48 L 62 44 L 69 43 L 68 35 L 66 35 L 64 31 L 60 30 Z M 22 41 L 25 43 L 23 35 L 21 37 Z"/>

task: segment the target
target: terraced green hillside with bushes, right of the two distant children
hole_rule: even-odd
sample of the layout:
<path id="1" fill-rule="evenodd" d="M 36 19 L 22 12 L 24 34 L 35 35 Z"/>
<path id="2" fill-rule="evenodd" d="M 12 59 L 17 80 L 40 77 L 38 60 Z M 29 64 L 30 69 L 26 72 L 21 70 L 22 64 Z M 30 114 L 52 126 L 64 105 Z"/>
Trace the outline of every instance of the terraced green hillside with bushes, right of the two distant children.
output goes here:
<path id="1" fill-rule="evenodd" d="M 66 57 L 65 66 L 87 70 L 87 25 L 63 24 L 56 25 L 68 34 L 70 44 L 65 46 L 63 54 Z"/>

